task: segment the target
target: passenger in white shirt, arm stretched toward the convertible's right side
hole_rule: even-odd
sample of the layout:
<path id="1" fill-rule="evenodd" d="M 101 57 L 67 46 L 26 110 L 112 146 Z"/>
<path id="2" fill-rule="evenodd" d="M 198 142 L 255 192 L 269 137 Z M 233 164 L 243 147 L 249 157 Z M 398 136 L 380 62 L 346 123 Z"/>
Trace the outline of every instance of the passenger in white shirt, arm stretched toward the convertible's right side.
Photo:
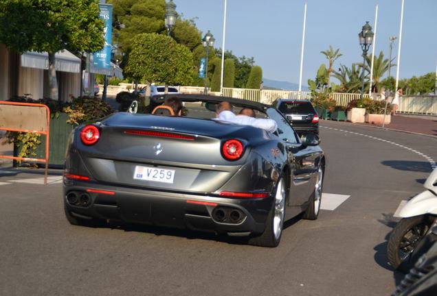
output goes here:
<path id="1" fill-rule="evenodd" d="M 253 111 L 253 110 L 252 110 Z M 232 112 L 232 105 L 228 101 L 223 101 L 217 105 L 216 120 L 237 123 L 240 125 L 251 125 L 267 132 L 275 132 L 278 125 L 273 119 L 256 119 L 251 116 Z"/>

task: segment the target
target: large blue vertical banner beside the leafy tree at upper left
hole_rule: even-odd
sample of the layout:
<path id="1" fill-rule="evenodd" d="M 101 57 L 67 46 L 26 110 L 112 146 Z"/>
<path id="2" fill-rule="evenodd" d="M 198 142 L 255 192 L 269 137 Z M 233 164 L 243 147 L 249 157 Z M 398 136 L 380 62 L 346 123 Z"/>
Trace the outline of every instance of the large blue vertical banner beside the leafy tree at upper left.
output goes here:
<path id="1" fill-rule="evenodd" d="M 112 49 L 112 5 L 99 4 L 100 19 L 104 21 L 104 47 L 101 51 L 93 53 L 93 65 L 100 69 L 111 68 Z"/>

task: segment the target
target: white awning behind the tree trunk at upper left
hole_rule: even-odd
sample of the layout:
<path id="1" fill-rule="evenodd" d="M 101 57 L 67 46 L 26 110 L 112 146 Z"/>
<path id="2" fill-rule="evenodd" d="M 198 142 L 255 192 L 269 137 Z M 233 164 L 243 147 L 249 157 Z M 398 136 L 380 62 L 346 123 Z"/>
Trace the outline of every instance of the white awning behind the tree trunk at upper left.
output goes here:
<path id="1" fill-rule="evenodd" d="M 63 50 L 55 53 L 56 71 L 80 73 L 80 58 Z M 26 51 L 21 55 L 21 66 L 36 69 L 49 69 L 49 55 L 46 52 Z"/>

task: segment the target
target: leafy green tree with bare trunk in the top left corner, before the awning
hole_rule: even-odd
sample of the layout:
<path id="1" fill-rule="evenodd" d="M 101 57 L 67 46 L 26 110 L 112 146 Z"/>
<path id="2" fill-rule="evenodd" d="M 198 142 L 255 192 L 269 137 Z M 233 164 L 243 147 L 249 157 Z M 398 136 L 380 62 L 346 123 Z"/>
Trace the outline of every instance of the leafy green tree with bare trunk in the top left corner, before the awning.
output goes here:
<path id="1" fill-rule="evenodd" d="M 94 0 L 2 0 L 0 42 L 17 53 L 47 51 L 50 97 L 57 100 L 55 53 L 102 49 L 104 24 L 99 14 Z"/>

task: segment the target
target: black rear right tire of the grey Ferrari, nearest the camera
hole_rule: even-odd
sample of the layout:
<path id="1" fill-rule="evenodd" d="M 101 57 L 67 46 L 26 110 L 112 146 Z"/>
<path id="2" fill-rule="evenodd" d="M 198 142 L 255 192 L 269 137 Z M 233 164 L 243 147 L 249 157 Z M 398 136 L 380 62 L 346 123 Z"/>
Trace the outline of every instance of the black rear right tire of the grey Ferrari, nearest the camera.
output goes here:
<path id="1" fill-rule="evenodd" d="M 284 190 L 284 197 L 283 197 L 283 217 L 282 222 L 280 223 L 280 232 L 278 235 L 275 234 L 274 231 L 274 219 L 275 219 L 275 212 L 276 212 L 276 195 L 278 193 L 278 190 L 280 190 L 279 186 L 282 184 L 282 190 Z M 265 230 L 260 234 L 259 236 L 251 236 L 248 240 L 249 245 L 256 245 L 260 247 L 278 247 L 281 236 L 282 236 L 282 230 L 284 227 L 284 218 L 285 218 L 285 204 L 286 204 L 286 195 L 285 192 L 287 189 L 285 188 L 285 182 L 284 179 L 281 177 L 280 180 L 278 180 L 278 183 L 276 184 L 275 189 L 275 195 L 273 196 L 272 206 L 269 212 L 269 215 L 267 216 L 267 221 L 265 225 Z"/>

